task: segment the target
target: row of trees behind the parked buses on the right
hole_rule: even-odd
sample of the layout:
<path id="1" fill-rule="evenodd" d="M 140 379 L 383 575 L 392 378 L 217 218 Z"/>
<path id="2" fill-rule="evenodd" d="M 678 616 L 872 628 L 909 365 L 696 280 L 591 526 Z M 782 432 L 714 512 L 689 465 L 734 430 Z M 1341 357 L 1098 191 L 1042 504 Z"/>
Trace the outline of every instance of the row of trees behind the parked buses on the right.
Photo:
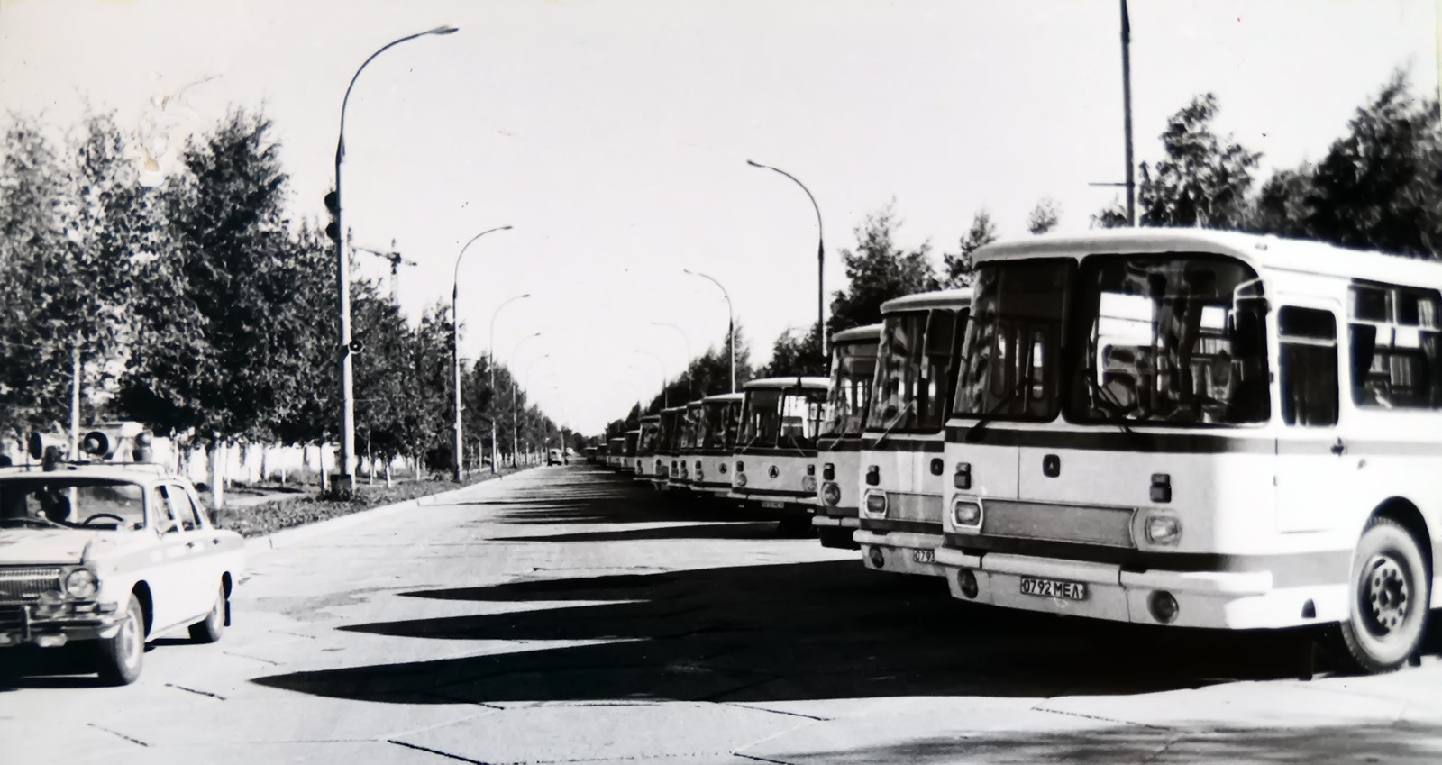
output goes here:
<path id="1" fill-rule="evenodd" d="M 1343 137 L 1321 161 L 1272 173 L 1259 183 L 1262 154 L 1214 130 L 1218 111 L 1213 94 L 1201 94 L 1167 121 L 1162 157 L 1139 166 L 1138 225 L 1233 229 L 1318 239 L 1358 249 L 1417 258 L 1442 258 L 1442 118 L 1438 101 L 1416 97 L 1405 75 L 1394 73 L 1357 108 Z M 1030 233 L 1045 233 L 1061 210 L 1043 199 L 1027 219 Z M 833 292 L 826 331 L 836 333 L 881 320 L 887 300 L 930 290 L 966 287 L 972 255 L 995 242 L 999 231 L 988 210 L 978 210 L 956 252 L 942 255 L 940 268 L 929 242 L 903 248 L 895 242 L 901 220 L 894 202 L 867 216 L 854 231 L 857 243 L 842 249 L 846 287 Z M 1112 203 L 1092 216 L 1094 228 L 1126 226 L 1126 209 Z M 692 362 L 704 364 L 709 359 Z M 738 367 L 741 369 L 741 367 Z M 689 372 L 689 369 L 688 369 Z M 816 327 L 783 333 L 771 360 L 757 377 L 823 375 Z M 747 366 L 744 375 L 750 379 Z M 711 386 L 679 390 L 679 380 L 658 395 L 646 413 L 724 392 Z M 688 395 L 679 395 L 688 393 Z M 611 422 L 606 435 L 636 428 L 642 408 Z"/>

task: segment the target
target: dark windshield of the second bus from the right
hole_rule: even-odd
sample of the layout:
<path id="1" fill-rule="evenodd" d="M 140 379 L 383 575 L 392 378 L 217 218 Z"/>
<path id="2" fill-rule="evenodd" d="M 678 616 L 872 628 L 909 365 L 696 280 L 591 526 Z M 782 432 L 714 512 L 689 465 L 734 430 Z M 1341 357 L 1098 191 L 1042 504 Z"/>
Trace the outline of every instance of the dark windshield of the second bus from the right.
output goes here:
<path id="1" fill-rule="evenodd" d="M 867 428 L 937 432 L 950 403 L 952 359 L 966 308 L 932 308 L 885 317 Z"/>

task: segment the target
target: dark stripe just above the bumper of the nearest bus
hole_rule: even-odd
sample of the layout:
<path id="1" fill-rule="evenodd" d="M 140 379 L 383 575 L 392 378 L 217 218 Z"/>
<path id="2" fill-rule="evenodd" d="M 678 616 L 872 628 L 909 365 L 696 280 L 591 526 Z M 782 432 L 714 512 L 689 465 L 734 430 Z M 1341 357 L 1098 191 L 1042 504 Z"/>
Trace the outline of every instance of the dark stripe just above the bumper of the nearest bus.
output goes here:
<path id="1" fill-rule="evenodd" d="M 968 555 L 988 552 L 1028 555 L 1056 560 L 1084 560 L 1120 566 L 1122 571 L 1272 572 L 1273 588 L 1340 585 L 1351 571 L 1351 550 L 1321 550 L 1280 555 L 1175 553 L 1041 539 L 1011 539 L 975 534 L 946 534 L 946 546 Z M 985 569 L 986 565 L 982 563 Z"/>

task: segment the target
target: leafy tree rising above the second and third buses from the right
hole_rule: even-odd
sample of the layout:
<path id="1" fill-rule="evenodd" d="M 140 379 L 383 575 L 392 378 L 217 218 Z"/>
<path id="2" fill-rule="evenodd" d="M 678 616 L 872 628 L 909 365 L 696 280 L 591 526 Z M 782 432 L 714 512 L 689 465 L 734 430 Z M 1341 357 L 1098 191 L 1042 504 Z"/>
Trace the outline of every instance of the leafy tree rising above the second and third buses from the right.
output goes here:
<path id="1" fill-rule="evenodd" d="M 857 246 L 841 251 L 846 288 L 832 295 L 831 318 L 826 321 L 829 333 L 881 321 L 883 303 L 940 287 L 930 243 L 901 249 L 895 243 L 900 226 L 893 200 L 852 229 Z"/>

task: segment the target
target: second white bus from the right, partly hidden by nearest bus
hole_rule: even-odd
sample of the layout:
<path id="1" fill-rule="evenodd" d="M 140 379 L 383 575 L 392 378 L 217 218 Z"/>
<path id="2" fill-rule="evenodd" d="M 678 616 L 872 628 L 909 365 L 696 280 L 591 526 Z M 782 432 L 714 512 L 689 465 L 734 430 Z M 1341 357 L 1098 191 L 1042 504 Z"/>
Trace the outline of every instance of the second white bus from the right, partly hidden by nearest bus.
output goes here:
<path id="1" fill-rule="evenodd" d="M 871 411 L 861 444 L 859 529 L 867 568 L 940 576 L 942 447 L 970 290 L 881 305 Z"/>

